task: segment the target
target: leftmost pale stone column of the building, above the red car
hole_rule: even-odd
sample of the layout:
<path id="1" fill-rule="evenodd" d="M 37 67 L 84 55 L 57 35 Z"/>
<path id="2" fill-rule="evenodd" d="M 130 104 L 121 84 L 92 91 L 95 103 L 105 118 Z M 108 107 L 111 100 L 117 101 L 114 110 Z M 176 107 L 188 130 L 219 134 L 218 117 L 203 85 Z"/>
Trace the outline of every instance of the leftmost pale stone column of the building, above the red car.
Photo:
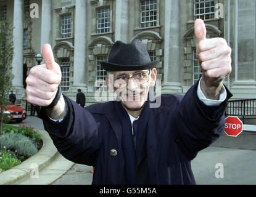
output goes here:
<path id="1" fill-rule="evenodd" d="M 12 86 L 17 99 L 25 93 L 23 87 L 23 0 L 14 1 L 14 57 L 12 60 Z"/>

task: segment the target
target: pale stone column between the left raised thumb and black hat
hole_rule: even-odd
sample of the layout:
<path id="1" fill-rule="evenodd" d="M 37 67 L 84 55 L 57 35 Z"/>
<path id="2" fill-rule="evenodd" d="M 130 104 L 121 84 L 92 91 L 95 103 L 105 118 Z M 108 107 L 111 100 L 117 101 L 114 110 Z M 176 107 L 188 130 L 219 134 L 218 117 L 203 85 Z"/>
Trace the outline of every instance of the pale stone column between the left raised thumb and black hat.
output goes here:
<path id="1" fill-rule="evenodd" d="M 87 91 L 86 79 L 86 1 L 75 1 L 74 82 L 72 89 Z"/>

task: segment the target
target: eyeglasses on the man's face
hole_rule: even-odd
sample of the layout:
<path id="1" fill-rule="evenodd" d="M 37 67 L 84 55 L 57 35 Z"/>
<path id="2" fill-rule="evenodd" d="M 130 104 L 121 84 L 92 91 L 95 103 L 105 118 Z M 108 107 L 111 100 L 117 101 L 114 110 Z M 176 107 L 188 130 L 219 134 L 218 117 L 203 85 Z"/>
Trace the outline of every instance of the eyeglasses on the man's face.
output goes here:
<path id="1" fill-rule="evenodd" d="M 132 76 L 122 75 L 114 78 L 114 86 L 117 88 L 126 87 L 129 79 L 133 79 L 136 84 L 145 84 L 149 81 L 149 71 L 139 71 L 138 73 L 134 73 Z"/>

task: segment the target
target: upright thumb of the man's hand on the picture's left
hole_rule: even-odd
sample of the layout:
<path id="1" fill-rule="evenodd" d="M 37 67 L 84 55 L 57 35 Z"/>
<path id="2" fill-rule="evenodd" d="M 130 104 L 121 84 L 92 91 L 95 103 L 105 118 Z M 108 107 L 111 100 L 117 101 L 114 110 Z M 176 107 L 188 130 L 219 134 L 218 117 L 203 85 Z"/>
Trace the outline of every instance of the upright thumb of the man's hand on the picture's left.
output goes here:
<path id="1" fill-rule="evenodd" d="M 52 48 L 49 44 L 44 44 L 42 49 L 42 55 L 44 59 L 44 63 L 46 64 L 47 68 L 51 71 L 56 71 L 56 63 L 54 61 L 54 56 L 52 53 Z"/>

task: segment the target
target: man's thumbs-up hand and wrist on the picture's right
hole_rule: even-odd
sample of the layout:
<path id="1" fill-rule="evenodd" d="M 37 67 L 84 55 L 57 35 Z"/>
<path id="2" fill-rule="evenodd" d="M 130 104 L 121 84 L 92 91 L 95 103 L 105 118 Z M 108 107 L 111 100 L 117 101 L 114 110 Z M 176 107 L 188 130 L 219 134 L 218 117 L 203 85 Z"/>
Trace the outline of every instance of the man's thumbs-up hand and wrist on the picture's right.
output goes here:
<path id="1" fill-rule="evenodd" d="M 194 24 L 197 60 L 202 68 L 200 88 L 205 97 L 218 100 L 222 82 L 231 73 L 231 48 L 223 38 L 206 39 L 204 21 Z"/>

